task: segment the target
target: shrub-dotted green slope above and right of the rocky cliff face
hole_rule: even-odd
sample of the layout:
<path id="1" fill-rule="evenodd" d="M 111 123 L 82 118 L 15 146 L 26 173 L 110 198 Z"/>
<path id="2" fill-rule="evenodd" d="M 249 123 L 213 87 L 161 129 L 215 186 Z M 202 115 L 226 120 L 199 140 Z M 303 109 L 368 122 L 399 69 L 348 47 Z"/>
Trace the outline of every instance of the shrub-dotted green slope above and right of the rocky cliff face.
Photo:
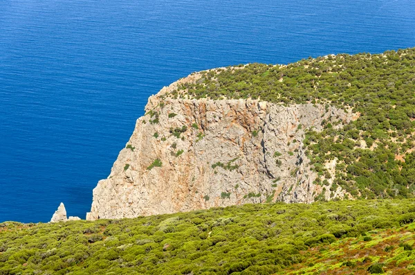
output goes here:
<path id="1" fill-rule="evenodd" d="M 327 179 L 334 178 L 331 190 L 341 186 L 352 197 L 413 197 L 415 48 L 328 55 L 286 66 L 240 65 L 201 75 L 165 96 L 351 108 L 358 119 L 341 130 L 329 119 L 323 121 L 323 132 L 306 134 L 308 157 L 320 175 L 315 183 L 329 185 Z M 331 175 L 324 164 L 334 159 L 337 166 Z"/>

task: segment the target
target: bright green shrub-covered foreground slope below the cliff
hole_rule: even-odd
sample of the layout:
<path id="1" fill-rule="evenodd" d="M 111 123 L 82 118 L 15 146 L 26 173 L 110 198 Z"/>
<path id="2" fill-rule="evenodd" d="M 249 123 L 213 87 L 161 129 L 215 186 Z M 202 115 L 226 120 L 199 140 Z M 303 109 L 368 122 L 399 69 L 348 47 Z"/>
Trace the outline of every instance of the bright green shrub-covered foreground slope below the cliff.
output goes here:
<path id="1" fill-rule="evenodd" d="M 415 200 L 0 224 L 0 274 L 415 273 Z"/>

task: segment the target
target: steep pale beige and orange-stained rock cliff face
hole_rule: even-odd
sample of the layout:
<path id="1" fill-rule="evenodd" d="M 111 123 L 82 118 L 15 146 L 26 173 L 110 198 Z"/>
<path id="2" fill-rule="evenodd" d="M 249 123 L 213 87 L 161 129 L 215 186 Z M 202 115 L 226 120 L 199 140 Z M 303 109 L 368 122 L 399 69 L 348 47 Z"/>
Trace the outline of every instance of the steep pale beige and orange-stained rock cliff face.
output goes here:
<path id="1" fill-rule="evenodd" d="M 342 127 L 351 113 L 312 104 L 163 96 L 183 81 L 194 79 L 149 98 L 147 114 L 138 118 L 111 174 L 93 190 L 87 220 L 245 203 L 310 203 L 322 192 L 329 199 L 330 186 L 313 184 L 304 132 L 322 130 L 323 120 L 341 121 L 337 127 Z M 335 191 L 335 197 L 342 196 L 342 190 Z"/>

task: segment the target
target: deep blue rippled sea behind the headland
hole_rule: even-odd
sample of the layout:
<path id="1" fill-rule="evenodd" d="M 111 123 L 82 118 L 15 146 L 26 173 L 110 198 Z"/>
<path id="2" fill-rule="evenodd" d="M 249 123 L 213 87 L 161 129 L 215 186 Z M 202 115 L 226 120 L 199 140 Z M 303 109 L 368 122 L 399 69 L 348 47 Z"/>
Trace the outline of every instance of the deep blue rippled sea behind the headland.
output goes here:
<path id="1" fill-rule="evenodd" d="M 0 0 L 0 222 L 85 218 L 147 98 L 193 71 L 415 46 L 411 0 Z"/>

